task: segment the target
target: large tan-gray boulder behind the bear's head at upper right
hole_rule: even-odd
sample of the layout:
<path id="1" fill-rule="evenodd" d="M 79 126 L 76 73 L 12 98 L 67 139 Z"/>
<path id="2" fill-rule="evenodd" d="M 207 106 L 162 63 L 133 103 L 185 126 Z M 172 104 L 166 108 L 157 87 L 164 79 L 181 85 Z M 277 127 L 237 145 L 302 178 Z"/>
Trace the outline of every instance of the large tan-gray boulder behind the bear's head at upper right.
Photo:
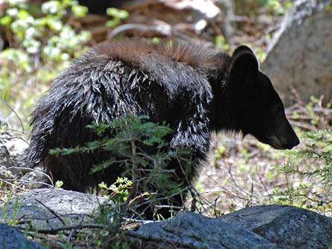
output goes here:
<path id="1" fill-rule="evenodd" d="M 297 0 L 271 44 L 261 69 L 286 103 L 290 89 L 309 99 L 332 98 L 332 7 L 330 0 Z"/>

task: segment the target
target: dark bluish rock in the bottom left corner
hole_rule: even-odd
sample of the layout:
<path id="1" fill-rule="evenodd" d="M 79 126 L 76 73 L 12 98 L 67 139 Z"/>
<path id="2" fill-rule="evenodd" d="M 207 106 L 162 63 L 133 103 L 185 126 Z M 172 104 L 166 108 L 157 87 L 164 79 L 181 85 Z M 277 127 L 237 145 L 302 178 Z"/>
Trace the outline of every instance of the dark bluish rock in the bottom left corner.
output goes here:
<path id="1" fill-rule="evenodd" d="M 22 233 L 11 226 L 0 224 L 0 249 L 46 249 L 44 246 L 28 241 Z"/>

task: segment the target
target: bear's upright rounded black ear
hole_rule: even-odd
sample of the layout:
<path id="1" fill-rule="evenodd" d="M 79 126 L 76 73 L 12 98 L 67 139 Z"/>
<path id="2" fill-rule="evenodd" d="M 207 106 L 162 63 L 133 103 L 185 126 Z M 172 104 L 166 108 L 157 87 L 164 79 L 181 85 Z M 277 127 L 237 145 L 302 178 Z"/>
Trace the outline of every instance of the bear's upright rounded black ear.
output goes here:
<path id="1" fill-rule="evenodd" d="M 244 86 L 244 84 L 249 85 L 256 82 L 259 72 L 259 63 L 251 50 L 242 49 L 243 51 L 238 51 L 236 56 L 232 59 L 230 66 L 230 83 Z"/>

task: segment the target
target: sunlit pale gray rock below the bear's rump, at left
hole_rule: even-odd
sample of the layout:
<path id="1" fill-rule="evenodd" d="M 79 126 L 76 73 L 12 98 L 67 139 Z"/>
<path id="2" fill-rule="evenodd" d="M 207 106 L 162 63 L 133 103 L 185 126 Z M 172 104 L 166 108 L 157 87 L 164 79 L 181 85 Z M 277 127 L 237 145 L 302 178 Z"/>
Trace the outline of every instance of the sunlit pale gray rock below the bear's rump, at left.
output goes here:
<path id="1" fill-rule="evenodd" d="M 54 229 L 65 224 L 90 221 L 106 199 L 63 189 L 41 188 L 12 198 L 0 214 L 16 214 L 18 225 L 32 224 L 35 229 Z M 18 206 L 18 208 L 16 207 Z"/>

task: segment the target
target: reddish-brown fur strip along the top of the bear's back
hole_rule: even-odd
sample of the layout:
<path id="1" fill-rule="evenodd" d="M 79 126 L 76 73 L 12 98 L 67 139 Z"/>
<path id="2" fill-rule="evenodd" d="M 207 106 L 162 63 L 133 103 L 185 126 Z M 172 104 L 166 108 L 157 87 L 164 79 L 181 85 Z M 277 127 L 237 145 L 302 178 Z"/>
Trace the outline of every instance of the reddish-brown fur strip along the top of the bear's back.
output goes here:
<path id="1" fill-rule="evenodd" d="M 225 71 L 230 63 L 230 56 L 225 53 L 208 49 L 201 44 L 181 40 L 158 43 L 145 39 L 107 41 L 97 44 L 88 54 L 145 69 L 153 66 L 148 63 L 149 59 L 153 57 L 193 68 L 202 68 L 208 72 Z"/>

